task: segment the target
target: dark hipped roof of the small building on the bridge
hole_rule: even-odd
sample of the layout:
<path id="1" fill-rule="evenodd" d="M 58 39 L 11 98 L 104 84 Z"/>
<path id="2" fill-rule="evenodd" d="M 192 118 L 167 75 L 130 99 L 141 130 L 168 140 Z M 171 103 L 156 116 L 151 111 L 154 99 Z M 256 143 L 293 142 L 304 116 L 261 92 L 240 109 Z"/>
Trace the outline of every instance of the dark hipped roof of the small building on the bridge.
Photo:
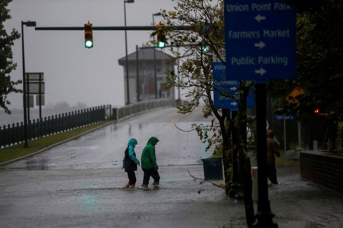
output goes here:
<path id="1" fill-rule="evenodd" d="M 155 55 L 156 55 L 156 60 L 161 60 L 164 59 L 166 62 L 173 62 L 173 64 L 176 64 L 175 61 L 173 61 L 173 57 L 161 52 L 157 49 L 155 49 Z M 134 61 L 136 62 L 136 52 L 133 52 L 131 54 L 127 55 L 128 61 Z M 145 61 L 153 61 L 153 48 L 144 48 L 138 50 L 138 59 L 139 60 L 145 60 Z M 125 56 L 118 59 L 119 65 L 124 66 L 125 65 L 126 58 Z"/>

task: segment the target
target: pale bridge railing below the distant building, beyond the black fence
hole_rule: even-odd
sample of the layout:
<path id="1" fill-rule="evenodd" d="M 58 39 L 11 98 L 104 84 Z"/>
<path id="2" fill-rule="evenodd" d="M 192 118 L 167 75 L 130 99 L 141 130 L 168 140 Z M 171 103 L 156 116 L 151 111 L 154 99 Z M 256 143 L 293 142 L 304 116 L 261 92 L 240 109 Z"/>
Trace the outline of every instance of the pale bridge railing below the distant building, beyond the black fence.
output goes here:
<path id="1" fill-rule="evenodd" d="M 175 106 L 175 100 L 170 99 L 154 99 L 147 101 L 140 101 L 137 103 L 129 104 L 124 107 L 115 107 L 112 108 L 112 119 L 119 121 L 124 118 L 128 118 L 144 111 L 158 108 L 158 107 L 167 107 Z"/>

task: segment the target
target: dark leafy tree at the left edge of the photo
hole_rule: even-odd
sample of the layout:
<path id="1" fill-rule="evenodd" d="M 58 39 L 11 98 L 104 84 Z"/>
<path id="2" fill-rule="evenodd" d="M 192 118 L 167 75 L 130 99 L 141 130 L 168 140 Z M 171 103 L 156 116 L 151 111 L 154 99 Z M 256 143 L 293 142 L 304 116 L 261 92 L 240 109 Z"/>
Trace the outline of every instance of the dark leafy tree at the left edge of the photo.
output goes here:
<path id="1" fill-rule="evenodd" d="M 0 107 L 5 109 L 5 112 L 11 114 L 8 105 L 11 102 L 7 95 L 11 92 L 22 92 L 15 86 L 22 83 L 21 80 L 12 81 L 10 73 L 16 69 L 17 64 L 13 62 L 13 53 L 11 46 L 14 41 L 20 38 L 20 34 L 15 29 L 11 34 L 8 34 L 4 28 L 4 22 L 11 19 L 10 10 L 7 6 L 12 0 L 2 0 L 0 2 Z"/>

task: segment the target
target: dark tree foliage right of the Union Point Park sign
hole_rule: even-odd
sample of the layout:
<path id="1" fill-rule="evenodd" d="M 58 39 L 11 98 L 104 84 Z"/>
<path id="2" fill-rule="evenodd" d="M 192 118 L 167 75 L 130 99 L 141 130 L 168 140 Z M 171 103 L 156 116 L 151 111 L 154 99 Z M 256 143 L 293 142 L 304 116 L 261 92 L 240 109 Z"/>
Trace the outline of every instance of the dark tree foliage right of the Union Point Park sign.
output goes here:
<path id="1" fill-rule="evenodd" d="M 285 103 L 281 112 L 300 116 L 312 114 L 315 108 L 343 112 L 340 92 L 343 84 L 343 1 L 331 2 L 298 3 L 298 77 L 274 81 L 270 88 L 274 89 L 274 94 L 281 91 L 287 95 L 300 86 L 306 93 L 296 97 L 297 103 Z"/>

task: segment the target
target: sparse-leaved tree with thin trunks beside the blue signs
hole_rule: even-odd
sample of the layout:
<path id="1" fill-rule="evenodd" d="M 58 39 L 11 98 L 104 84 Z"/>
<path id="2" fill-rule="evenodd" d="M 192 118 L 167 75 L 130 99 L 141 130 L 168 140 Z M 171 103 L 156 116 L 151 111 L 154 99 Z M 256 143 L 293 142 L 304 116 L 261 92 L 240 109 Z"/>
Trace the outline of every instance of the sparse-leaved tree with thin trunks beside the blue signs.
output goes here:
<path id="1" fill-rule="evenodd" d="M 178 68 L 178 73 L 174 70 L 167 71 L 168 80 L 166 87 L 176 86 L 187 90 L 186 97 L 194 102 L 186 101 L 178 106 L 180 113 L 192 112 L 200 103 L 205 101 L 202 112 L 205 118 L 211 118 L 209 126 L 193 124 L 192 127 L 198 132 L 203 142 L 208 142 L 209 149 L 215 146 L 215 150 L 221 150 L 224 164 L 225 192 L 229 194 L 232 183 L 232 157 L 231 157 L 231 135 L 237 136 L 237 141 L 233 144 L 233 150 L 238 149 L 240 167 L 244 173 L 246 185 L 244 190 L 246 196 L 245 208 L 247 224 L 250 227 L 254 221 L 253 205 L 251 199 L 251 175 L 250 160 L 246 156 L 245 144 L 243 143 L 242 132 L 246 131 L 246 113 L 244 102 L 250 89 L 251 83 L 240 81 L 240 108 L 235 119 L 228 118 L 230 110 L 217 109 L 214 106 L 213 90 L 213 55 L 221 59 L 220 49 L 224 49 L 224 10 L 223 1 L 213 3 L 209 0 L 173 0 L 176 2 L 175 11 L 161 11 L 163 22 L 168 28 L 167 32 L 170 49 L 176 58 L 187 57 Z M 181 30 L 180 26 L 187 26 L 187 30 Z M 155 32 L 156 33 L 156 32 Z M 153 33 L 152 35 L 155 35 Z M 176 50 L 182 47 L 185 53 Z M 224 62 L 223 59 L 221 59 Z M 233 94 L 223 94 L 233 98 Z M 212 135 L 209 134 L 212 132 Z"/>

